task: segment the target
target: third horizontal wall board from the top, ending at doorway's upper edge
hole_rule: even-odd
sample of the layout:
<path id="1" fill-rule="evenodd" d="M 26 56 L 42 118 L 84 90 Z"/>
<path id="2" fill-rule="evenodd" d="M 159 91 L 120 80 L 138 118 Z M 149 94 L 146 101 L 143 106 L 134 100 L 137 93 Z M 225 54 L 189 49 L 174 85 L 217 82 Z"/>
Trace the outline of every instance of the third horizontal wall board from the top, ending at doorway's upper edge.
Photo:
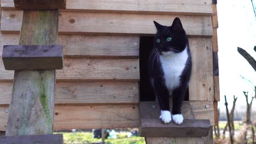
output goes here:
<path id="1" fill-rule="evenodd" d="M 139 56 L 139 37 L 120 35 L 59 35 L 64 56 L 135 57 Z M 0 34 L 0 46 L 19 44 L 19 34 Z M 0 47 L 0 53 L 2 47 Z"/>

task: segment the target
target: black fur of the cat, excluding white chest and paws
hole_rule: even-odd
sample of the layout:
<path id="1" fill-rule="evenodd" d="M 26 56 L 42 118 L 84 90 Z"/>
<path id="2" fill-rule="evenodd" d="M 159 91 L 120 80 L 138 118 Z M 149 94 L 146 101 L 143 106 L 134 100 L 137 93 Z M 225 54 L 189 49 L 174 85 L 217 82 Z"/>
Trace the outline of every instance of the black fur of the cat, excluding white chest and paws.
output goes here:
<path id="1" fill-rule="evenodd" d="M 174 19 L 172 26 L 162 26 L 155 22 L 157 33 L 154 37 L 154 49 L 149 56 L 149 78 L 152 82 L 152 87 L 156 98 L 159 101 L 160 109 L 170 111 L 169 91 L 165 84 L 164 71 L 160 62 L 162 52 L 173 51 L 174 53 L 182 52 L 185 47 L 188 47 L 188 59 L 180 76 L 179 87 L 172 91 L 172 115 L 181 114 L 181 107 L 184 100 L 184 95 L 188 87 L 191 75 L 191 55 L 189 50 L 188 37 L 182 27 L 182 23 L 178 17 Z M 171 41 L 166 41 L 171 37 Z M 156 39 L 160 39 L 161 43 L 157 43 Z M 169 47 L 169 48 L 168 48 Z M 170 48 L 172 47 L 172 48 Z M 155 54 L 158 53 L 158 54 Z"/>

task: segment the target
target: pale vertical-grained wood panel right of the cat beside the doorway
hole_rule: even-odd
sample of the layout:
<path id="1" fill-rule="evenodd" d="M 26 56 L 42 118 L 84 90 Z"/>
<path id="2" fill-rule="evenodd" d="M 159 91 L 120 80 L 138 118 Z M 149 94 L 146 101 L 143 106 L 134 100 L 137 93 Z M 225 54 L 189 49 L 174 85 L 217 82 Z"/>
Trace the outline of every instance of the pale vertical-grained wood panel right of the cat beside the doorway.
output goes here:
<path id="1" fill-rule="evenodd" d="M 213 54 L 211 38 L 191 38 L 192 74 L 189 82 L 189 100 L 214 99 Z"/>

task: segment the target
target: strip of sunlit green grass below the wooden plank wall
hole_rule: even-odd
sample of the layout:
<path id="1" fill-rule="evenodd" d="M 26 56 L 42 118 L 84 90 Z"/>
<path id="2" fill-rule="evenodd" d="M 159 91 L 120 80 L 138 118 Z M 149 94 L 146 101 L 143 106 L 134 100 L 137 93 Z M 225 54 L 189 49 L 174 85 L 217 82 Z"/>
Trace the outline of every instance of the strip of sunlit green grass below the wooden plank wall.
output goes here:
<path id="1" fill-rule="evenodd" d="M 101 139 L 94 139 L 90 132 L 72 132 L 72 133 L 55 133 L 63 134 L 63 141 L 65 144 L 88 144 L 99 143 Z M 126 134 L 117 134 L 117 139 L 106 139 L 108 144 L 144 144 L 144 137 L 132 136 L 127 137 Z"/>

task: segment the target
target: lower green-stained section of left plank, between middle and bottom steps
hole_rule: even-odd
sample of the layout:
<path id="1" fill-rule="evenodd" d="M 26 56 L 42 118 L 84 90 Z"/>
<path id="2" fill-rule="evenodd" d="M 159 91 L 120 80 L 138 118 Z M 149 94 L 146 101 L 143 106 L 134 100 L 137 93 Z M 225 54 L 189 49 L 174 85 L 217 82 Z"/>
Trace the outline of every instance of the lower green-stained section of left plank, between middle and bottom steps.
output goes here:
<path id="1" fill-rule="evenodd" d="M 6 135 L 50 134 L 55 71 L 15 71 Z"/>

